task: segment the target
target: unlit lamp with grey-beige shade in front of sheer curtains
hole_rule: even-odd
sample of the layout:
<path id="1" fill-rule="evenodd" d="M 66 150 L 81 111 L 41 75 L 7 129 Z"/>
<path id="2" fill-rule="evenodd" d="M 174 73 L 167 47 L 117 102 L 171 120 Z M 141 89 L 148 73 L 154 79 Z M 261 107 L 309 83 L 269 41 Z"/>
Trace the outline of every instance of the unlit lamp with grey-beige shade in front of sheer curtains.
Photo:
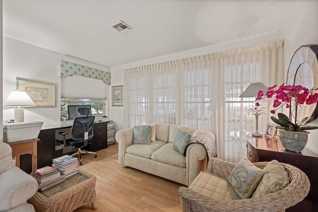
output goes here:
<path id="1" fill-rule="evenodd" d="M 256 97 L 259 90 L 267 91 L 268 87 L 262 82 L 254 82 L 248 85 L 248 87 L 240 94 L 241 98 Z M 255 112 L 257 111 L 258 106 L 255 106 Z M 254 114 L 256 120 L 256 130 L 253 133 L 253 136 L 262 136 L 258 133 L 258 115 Z"/>

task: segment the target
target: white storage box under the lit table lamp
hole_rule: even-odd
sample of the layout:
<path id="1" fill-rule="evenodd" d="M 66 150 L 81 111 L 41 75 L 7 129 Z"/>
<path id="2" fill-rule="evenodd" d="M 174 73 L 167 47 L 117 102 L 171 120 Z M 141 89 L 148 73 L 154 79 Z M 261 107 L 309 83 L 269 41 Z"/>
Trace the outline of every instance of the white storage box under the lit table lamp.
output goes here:
<path id="1" fill-rule="evenodd" d="M 3 124 L 3 141 L 10 143 L 36 139 L 39 136 L 43 122 L 19 122 Z"/>

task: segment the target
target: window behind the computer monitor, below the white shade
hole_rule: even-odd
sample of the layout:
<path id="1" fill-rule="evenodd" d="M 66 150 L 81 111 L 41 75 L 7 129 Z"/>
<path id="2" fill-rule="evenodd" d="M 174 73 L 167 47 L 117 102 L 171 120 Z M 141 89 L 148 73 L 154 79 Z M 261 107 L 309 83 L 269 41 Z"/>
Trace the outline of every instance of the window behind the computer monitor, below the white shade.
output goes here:
<path id="1" fill-rule="evenodd" d="M 68 119 L 68 105 L 91 105 L 91 112 L 93 116 L 104 116 L 104 105 L 103 99 L 72 99 L 62 98 L 61 99 L 61 120 Z"/>

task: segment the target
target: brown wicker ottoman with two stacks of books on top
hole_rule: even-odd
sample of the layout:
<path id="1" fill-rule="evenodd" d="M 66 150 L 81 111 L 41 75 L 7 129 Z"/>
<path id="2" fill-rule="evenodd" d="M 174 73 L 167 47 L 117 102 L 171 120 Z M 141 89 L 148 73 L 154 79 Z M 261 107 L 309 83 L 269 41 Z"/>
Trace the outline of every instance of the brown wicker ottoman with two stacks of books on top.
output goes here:
<path id="1" fill-rule="evenodd" d="M 79 173 L 44 191 L 37 191 L 28 200 L 36 212 L 73 212 L 77 208 L 95 204 L 96 177 L 79 170 Z"/>

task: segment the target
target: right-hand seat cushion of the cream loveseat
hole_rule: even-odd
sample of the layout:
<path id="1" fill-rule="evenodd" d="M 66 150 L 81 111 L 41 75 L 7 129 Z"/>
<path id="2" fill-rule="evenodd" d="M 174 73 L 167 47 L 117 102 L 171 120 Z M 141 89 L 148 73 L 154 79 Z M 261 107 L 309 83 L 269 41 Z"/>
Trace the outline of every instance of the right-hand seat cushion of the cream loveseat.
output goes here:
<path id="1" fill-rule="evenodd" d="M 179 166 L 181 168 L 185 167 L 185 156 L 179 154 L 173 148 L 173 143 L 166 143 L 161 148 L 156 150 L 151 159 L 156 160 L 161 163 L 170 164 L 173 166 Z"/>

